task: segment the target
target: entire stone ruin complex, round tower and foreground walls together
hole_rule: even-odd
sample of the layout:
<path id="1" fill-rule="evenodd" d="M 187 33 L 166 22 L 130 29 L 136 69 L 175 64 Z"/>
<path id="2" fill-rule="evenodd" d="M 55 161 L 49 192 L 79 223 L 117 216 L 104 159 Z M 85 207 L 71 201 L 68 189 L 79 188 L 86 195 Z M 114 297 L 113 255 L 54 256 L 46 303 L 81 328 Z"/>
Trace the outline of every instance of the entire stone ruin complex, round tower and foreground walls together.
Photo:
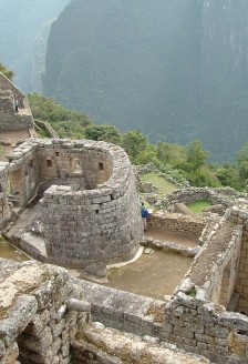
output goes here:
<path id="1" fill-rule="evenodd" d="M 0 110 L 0 129 L 9 114 Z M 0 228 L 34 259 L 106 265 L 133 257 L 142 242 L 194 261 L 162 301 L 73 279 L 55 265 L 0 259 L 1 364 L 248 362 L 247 195 L 229 189 L 172 193 L 172 212 L 152 214 L 148 225 L 195 234 L 198 246 L 187 249 L 142 239 L 133 170 L 116 145 L 30 139 L 7 160 L 0 162 Z M 178 203 L 203 199 L 218 209 L 174 212 Z"/>

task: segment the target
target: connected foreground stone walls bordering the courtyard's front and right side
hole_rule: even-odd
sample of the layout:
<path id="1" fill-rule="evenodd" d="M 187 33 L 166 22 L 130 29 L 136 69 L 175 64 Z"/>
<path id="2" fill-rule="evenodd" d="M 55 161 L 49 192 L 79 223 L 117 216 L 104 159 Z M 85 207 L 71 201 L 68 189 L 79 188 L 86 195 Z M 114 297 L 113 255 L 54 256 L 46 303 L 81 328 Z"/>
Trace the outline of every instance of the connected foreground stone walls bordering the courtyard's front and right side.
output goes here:
<path id="1" fill-rule="evenodd" d="M 1 363 L 247 363 L 247 206 L 239 199 L 204 220 L 152 216 L 153 226 L 195 232 L 204 242 L 165 301 L 73 279 L 54 265 L 1 260 Z"/>

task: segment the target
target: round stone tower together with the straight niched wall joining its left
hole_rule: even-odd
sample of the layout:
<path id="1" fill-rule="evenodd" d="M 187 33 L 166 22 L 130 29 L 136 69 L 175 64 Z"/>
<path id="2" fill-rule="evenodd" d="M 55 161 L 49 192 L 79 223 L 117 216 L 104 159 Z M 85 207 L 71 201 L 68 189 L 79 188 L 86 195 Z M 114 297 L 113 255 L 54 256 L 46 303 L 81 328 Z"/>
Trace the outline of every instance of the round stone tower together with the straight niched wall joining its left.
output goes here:
<path id="1" fill-rule="evenodd" d="M 123 149 L 30 139 L 9 161 L 11 190 L 21 208 L 35 191 L 44 191 L 39 219 L 48 262 L 83 269 L 134 257 L 143 229 L 135 176 Z"/>

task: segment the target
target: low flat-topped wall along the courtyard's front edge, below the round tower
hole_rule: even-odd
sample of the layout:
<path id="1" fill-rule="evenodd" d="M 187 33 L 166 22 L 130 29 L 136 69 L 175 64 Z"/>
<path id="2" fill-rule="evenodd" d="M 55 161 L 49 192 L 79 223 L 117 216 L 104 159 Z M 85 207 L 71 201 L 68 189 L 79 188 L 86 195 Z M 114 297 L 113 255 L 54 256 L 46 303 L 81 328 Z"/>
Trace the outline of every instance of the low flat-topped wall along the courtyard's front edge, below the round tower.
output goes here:
<path id="1" fill-rule="evenodd" d="M 161 336 L 165 302 L 74 280 L 91 303 L 92 321 L 136 335 Z"/>

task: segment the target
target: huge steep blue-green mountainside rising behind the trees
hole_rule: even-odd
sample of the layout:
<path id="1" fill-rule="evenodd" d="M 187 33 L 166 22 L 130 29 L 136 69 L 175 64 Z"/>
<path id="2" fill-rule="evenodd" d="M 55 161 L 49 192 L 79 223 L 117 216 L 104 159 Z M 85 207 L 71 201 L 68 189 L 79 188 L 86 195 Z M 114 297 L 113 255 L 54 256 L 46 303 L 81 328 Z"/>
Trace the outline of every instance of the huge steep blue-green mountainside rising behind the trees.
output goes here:
<path id="1" fill-rule="evenodd" d="M 248 132 L 247 0 L 73 0 L 53 23 L 43 91 L 151 141 L 228 160 Z"/>

